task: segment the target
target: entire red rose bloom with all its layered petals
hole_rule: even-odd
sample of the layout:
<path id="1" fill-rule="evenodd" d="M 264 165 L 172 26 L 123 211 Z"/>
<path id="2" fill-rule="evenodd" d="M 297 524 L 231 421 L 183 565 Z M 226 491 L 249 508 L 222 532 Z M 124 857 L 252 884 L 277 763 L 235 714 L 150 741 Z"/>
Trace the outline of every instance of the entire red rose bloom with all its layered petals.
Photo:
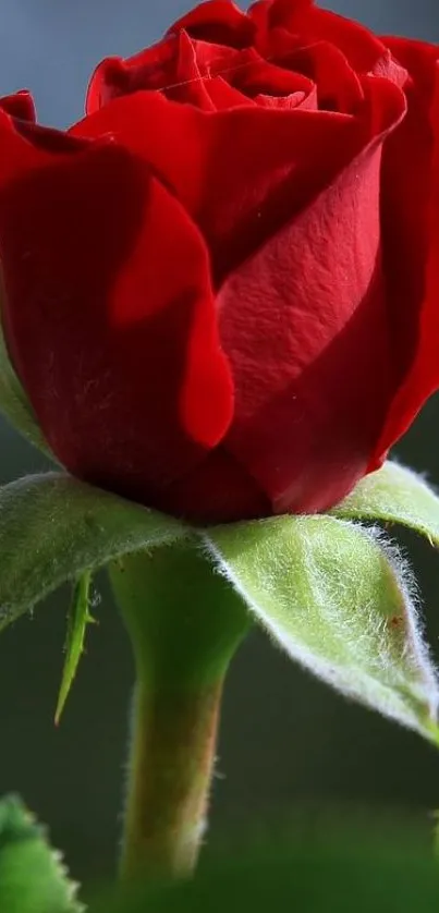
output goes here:
<path id="1" fill-rule="evenodd" d="M 211 0 L 65 134 L 3 102 L 4 330 L 73 474 L 215 522 L 380 464 L 439 386 L 438 58 Z"/>

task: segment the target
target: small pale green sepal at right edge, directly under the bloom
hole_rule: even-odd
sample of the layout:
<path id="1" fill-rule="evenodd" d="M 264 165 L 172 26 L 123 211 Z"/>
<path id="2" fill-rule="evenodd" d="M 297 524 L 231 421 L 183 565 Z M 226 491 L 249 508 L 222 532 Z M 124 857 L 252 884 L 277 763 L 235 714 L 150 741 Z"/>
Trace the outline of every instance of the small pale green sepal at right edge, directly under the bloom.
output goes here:
<path id="1" fill-rule="evenodd" d="M 398 523 L 439 546 L 439 497 L 422 476 L 398 463 L 385 463 L 365 476 L 330 513 L 351 520 Z"/>

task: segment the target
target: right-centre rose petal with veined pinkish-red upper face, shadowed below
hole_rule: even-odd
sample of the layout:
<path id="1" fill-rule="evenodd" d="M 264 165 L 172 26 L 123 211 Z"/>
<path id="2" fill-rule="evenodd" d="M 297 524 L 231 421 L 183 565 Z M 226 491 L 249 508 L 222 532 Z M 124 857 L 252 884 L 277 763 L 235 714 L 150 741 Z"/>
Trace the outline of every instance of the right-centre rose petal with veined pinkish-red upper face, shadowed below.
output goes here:
<path id="1" fill-rule="evenodd" d="M 276 512 L 325 510 L 353 487 L 392 394 L 380 161 L 404 100 L 380 88 L 381 135 L 220 293 L 236 389 L 225 447 Z"/>

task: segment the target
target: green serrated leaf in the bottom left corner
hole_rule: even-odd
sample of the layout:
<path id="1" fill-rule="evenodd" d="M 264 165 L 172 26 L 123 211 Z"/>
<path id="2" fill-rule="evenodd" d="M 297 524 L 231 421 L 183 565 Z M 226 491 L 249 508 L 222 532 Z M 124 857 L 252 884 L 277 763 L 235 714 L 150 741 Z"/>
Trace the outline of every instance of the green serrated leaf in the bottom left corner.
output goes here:
<path id="1" fill-rule="evenodd" d="M 61 853 L 20 799 L 0 802 L 0 910 L 4 913 L 81 913 L 77 885 Z"/>

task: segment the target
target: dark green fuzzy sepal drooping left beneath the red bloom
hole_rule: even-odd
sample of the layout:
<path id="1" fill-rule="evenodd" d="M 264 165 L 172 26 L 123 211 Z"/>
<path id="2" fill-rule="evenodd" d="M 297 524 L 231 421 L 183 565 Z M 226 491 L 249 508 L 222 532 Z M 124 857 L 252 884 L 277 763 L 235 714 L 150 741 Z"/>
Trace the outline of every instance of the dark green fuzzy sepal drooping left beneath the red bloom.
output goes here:
<path id="1" fill-rule="evenodd" d="M 0 630 L 68 580 L 187 535 L 164 514 L 64 473 L 0 488 Z"/>

